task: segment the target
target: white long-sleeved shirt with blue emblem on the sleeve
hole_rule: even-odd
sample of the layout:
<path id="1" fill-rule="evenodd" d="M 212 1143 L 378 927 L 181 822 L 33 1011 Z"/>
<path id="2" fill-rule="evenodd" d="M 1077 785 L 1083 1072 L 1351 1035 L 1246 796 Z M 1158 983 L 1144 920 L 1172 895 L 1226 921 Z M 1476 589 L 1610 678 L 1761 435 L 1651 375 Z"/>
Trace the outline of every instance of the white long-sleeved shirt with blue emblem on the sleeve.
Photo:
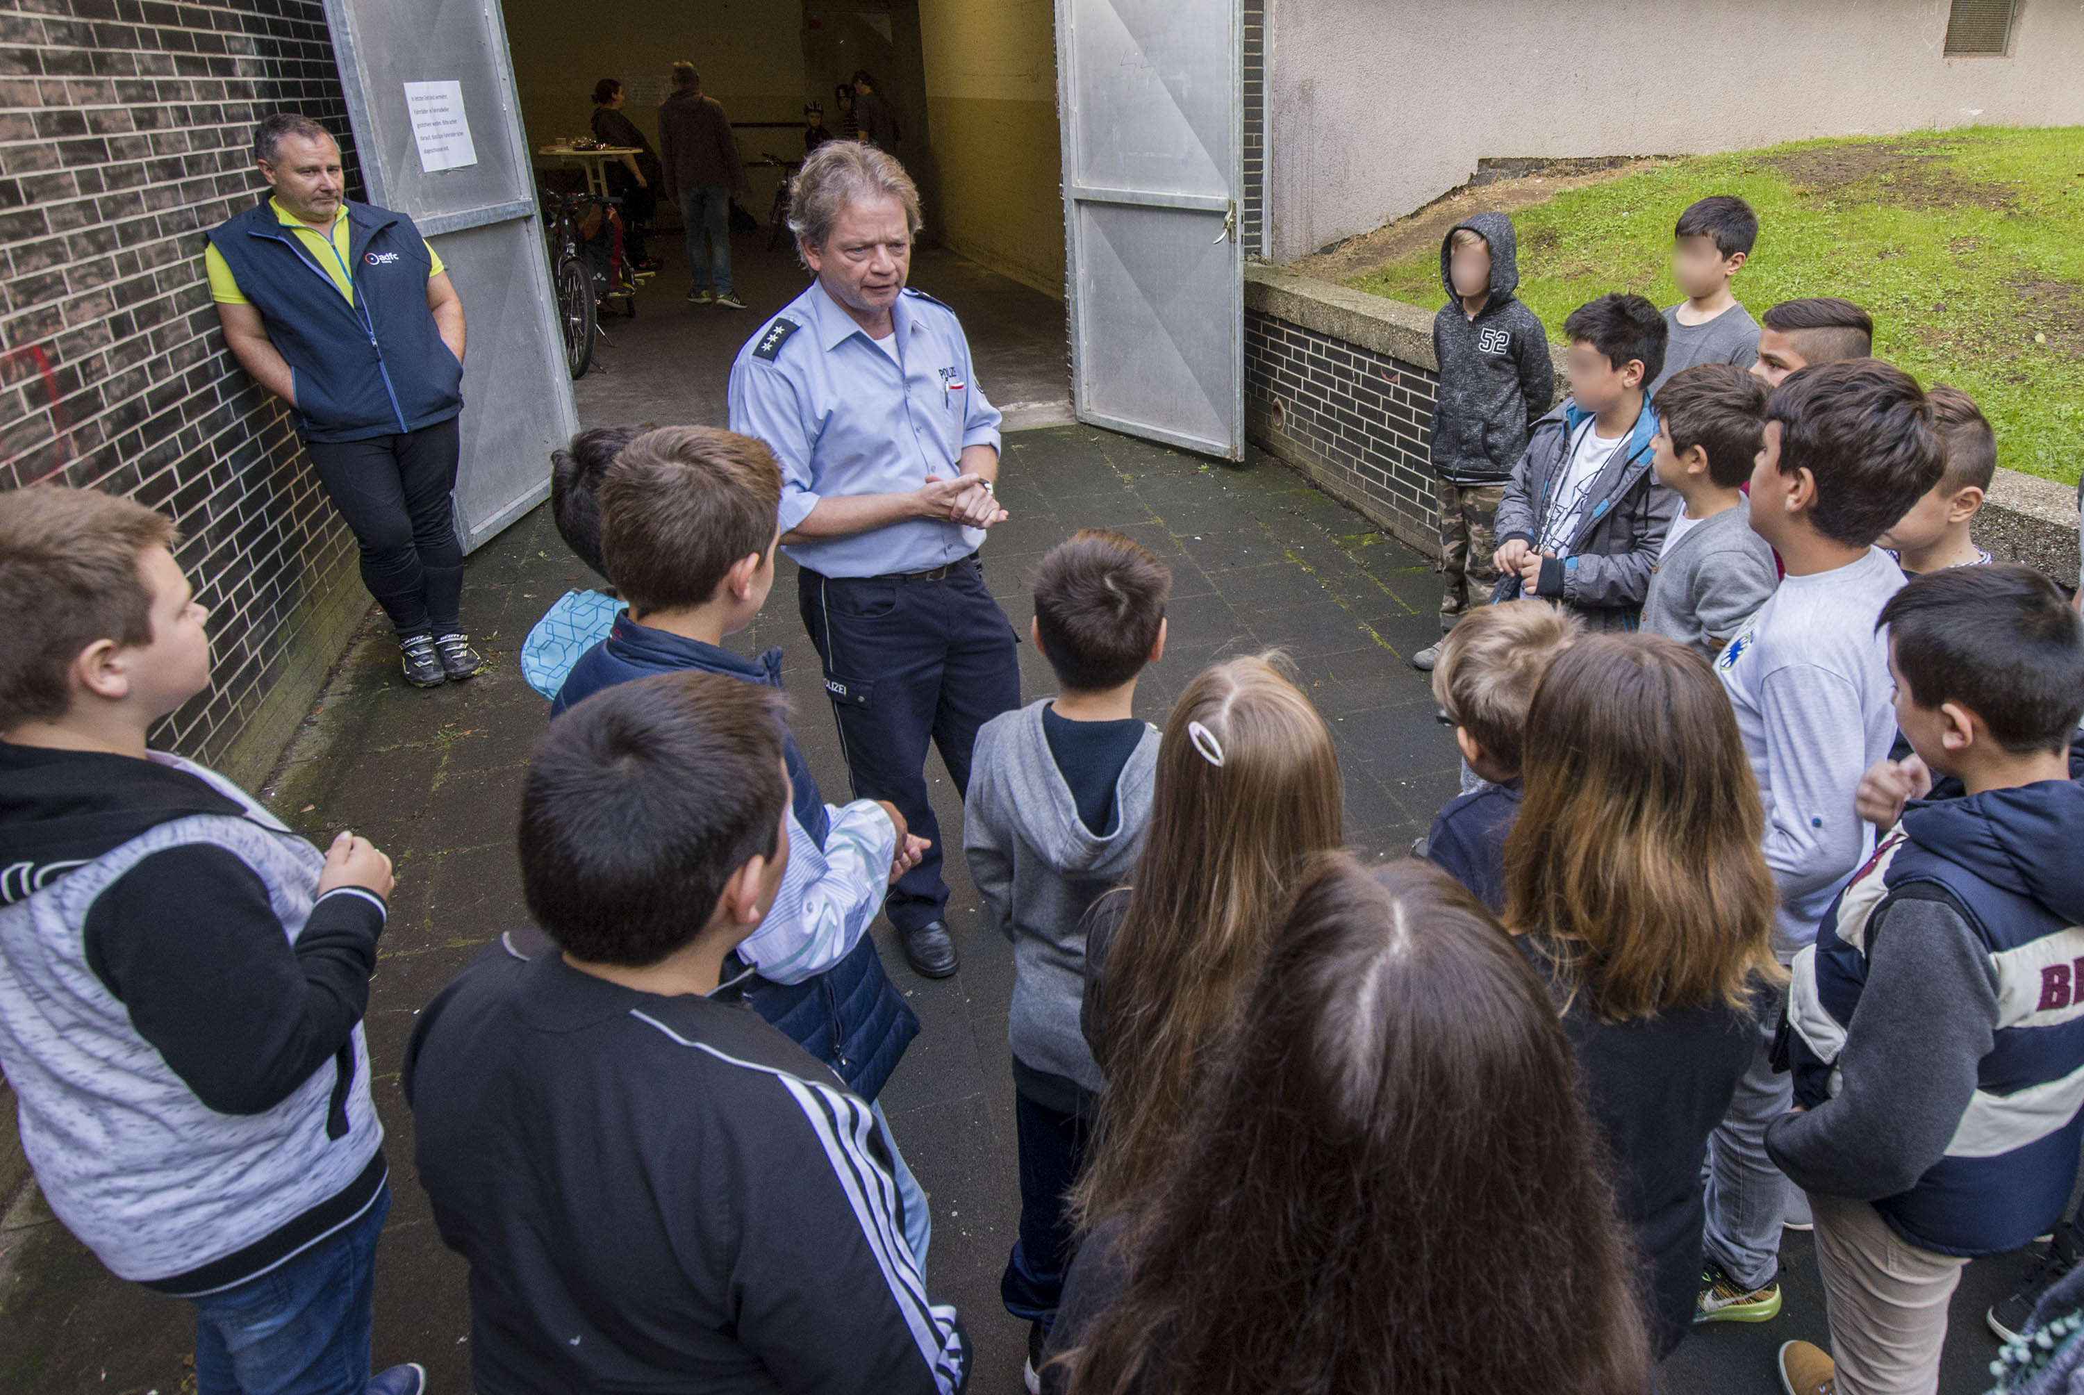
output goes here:
<path id="1" fill-rule="evenodd" d="M 1765 799 L 1782 963 L 1815 940 L 1832 897 L 1874 851 L 1853 797 L 1896 740 L 1888 640 L 1874 621 L 1901 588 L 1903 571 L 1876 546 L 1851 565 L 1784 578 L 1715 659 Z"/>

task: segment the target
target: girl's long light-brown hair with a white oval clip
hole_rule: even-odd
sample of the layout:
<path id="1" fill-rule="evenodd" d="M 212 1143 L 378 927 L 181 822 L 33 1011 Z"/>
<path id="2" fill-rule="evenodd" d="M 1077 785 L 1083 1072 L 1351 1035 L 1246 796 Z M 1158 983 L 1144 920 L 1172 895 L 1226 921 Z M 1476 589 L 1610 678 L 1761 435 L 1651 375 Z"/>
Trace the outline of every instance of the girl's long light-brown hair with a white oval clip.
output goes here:
<path id="1" fill-rule="evenodd" d="M 1311 853 L 1340 845 L 1338 753 L 1277 655 L 1215 663 L 1159 742 L 1136 878 L 1094 909 L 1082 1026 L 1107 1078 L 1086 1176 L 1090 1224 L 1171 1153 L 1209 1045 L 1265 959 Z"/>

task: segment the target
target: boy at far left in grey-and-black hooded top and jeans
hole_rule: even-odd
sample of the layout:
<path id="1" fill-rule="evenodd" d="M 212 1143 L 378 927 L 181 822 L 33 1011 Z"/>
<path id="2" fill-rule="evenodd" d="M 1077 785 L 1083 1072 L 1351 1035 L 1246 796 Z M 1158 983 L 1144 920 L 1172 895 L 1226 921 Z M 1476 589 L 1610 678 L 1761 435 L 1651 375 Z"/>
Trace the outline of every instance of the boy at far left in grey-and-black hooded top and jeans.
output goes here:
<path id="1" fill-rule="evenodd" d="M 50 1209 L 196 1305 L 202 1395 L 419 1395 L 369 1374 L 390 1212 L 363 1011 L 390 859 L 321 855 L 146 732 L 210 686 L 173 525 L 0 494 L 0 1068 Z"/>

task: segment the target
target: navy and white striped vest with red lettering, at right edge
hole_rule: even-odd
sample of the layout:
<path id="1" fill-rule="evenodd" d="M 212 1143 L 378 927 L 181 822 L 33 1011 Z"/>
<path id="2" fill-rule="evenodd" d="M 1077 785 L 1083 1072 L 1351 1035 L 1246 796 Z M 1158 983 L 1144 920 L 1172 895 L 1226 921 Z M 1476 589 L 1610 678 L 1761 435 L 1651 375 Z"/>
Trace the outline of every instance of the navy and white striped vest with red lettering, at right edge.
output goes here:
<path id="1" fill-rule="evenodd" d="M 1913 805 L 1909 817 L 1915 813 Z M 1996 963 L 2005 1018 L 1946 1157 L 1874 1209 L 1896 1234 L 1934 1253 L 2021 1249 L 2069 1203 L 2084 1143 L 2084 1111 L 2057 1103 L 2063 1080 L 2084 1070 L 2084 1013 L 2074 1011 L 2084 1009 L 2084 957 L 2071 963 L 2055 938 L 2071 926 L 2040 901 L 1926 849 L 1901 828 L 1884 838 L 1824 917 L 1813 961 L 1803 963 L 1807 951 L 1796 959 L 1796 1030 L 1788 1032 L 1794 1099 L 1815 1107 L 1830 1097 L 1832 1068 L 1867 984 L 1867 936 L 1899 895 L 1942 899 L 1961 913 Z"/>

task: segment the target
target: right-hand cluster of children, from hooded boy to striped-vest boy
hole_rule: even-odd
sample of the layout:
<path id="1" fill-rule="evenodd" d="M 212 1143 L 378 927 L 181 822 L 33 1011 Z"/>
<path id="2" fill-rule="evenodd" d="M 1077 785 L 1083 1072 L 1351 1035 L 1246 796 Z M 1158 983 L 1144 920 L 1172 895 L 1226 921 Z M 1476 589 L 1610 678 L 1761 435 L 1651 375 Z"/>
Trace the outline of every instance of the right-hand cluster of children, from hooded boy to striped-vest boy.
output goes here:
<path id="1" fill-rule="evenodd" d="M 1505 480 L 1494 573 L 1473 563 L 1467 519 L 1442 509 L 1446 636 L 1415 663 L 1434 671 L 1467 792 L 1423 847 L 1515 934 L 1571 945 L 1565 959 L 1590 970 L 1582 984 L 1640 974 L 1646 997 L 1632 1005 L 1590 995 L 1607 1045 L 1588 1055 L 1590 1038 L 1573 1038 L 1594 1116 L 1634 1172 L 1617 1189 L 1621 1214 L 1665 1284 L 1651 1303 L 1657 1349 L 1690 1322 L 1776 1316 L 1780 1232 L 1813 1224 L 1834 1351 L 1788 1343 L 1790 1395 L 1932 1391 L 1961 1266 L 2046 1228 L 2078 1172 L 2084 1043 L 2057 1045 L 2074 1036 L 2061 1028 L 2076 995 L 2046 988 L 2042 965 L 2067 974 L 2084 949 L 2069 943 L 2084 884 L 2040 845 L 2078 811 L 2069 747 L 2084 667 L 2061 592 L 1990 567 L 1969 536 L 1996 465 L 1974 400 L 1946 386 L 1928 394 L 1871 359 L 1871 319 L 1844 300 L 1792 300 L 1763 327 L 1751 321 L 1730 279 L 1755 238 L 1742 200 L 1692 204 L 1671 259 L 1686 302 L 1661 317 L 1640 296 L 1580 307 L 1565 321 L 1565 400 L 1548 411 L 1546 396 L 1494 392 L 1484 430 L 1459 419 L 1467 384 L 1503 377 L 1490 365 L 1484 380 L 1484 365 L 1448 348 L 1465 325 L 1509 319 L 1498 300 L 1511 273 L 1486 288 L 1482 271 L 1486 254 L 1492 271 L 1500 252 L 1511 265 L 1511 231 L 1503 215 L 1480 215 L 1444 240 L 1442 480 L 1469 475 L 1469 440 L 1511 448 L 1532 425 L 1517 461 L 1478 465 Z M 1503 334 L 1488 342 L 1517 352 Z M 1517 380 L 1542 382 L 1523 369 Z M 1492 578 L 1496 603 L 1465 605 L 1469 584 Z M 1659 640 L 1713 663 L 1711 707 L 1728 728 L 1717 740 L 1748 761 L 1744 788 L 1715 776 L 1715 742 L 1659 776 L 1701 730 L 1676 690 L 1632 709 L 1646 678 L 1623 684 L 1619 651 L 1605 705 L 1542 732 L 1563 676 L 1613 644 L 1588 638 L 1598 632 L 1636 632 L 1644 671 Z M 1655 749 L 1609 732 L 1617 711 L 1636 711 Z M 1609 747 L 1628 751 L 1611 765 L 1632 772 L 1626 794 L 1588 794 L 1598 769 L 1576 769 L 1569 799 L 1538 794 L 1544 763 L 1582 765 Z M 1955 780 L 1949 799 L 1905 813 L 1905 794 L 1930 797 L 1936 776 Z M 1671 807 L 1659 801 L 1665 778 L 1678 780 Z M 1559 822 L 1559 801 L 1586 822 Z M 1715 828 L 1686 832 L 1703 803 Z M 1757 836 L 1742 849 L 1715 836 L 1746 826 Z M 1876 830 L 1896 830 L 1880 853 Z M 1634 838 L 1630 857 L 1603 855 L 1613 836 Z M 1921 853 L 1917 874 L 1899 870 L 1896 849 Z M 1540 880 L 1544 863 L 1555 880 Z M 1694 888 L 1711 895 L 1688 911 Z M 1690 955 L 1709 953 L 1709 926 L 1744 905 L 1767 915 L 1751 924 L 1751 957 L 1730 959 L 1746 965 L 1728 980 L 1734 1018 L 1694 1024 L 1688 1047 L 1678 1009 L 1711 997 L 1676 984 Z M 1876 955 L 1878 907 L 1930 928 Z M 1671 957 L 1630 970 L 1634 936 Z M 1732 926 L 1723 953 L 1738 938 Z M 1771 990 L 1776 965 L 1792 970 L 1792 990 Z M 1853 1028 L 1855 1005 L 1865 1030 Z M 1615 1028 L 1636 1028 L 1640 1057 L 1623 1055 L 1628 1032 Z M 1636 1172 L 1651 1159 L 1676 1184 L 1663 1220 Z M 1676 1209 L 1682 1195 L 1690 1216 Z M 1659 1241 L 1680 1230 L 1684 1257 Z M 2011 1339 L 2030 1307 L 2011 1299 L 1990 1326 Z"/>

